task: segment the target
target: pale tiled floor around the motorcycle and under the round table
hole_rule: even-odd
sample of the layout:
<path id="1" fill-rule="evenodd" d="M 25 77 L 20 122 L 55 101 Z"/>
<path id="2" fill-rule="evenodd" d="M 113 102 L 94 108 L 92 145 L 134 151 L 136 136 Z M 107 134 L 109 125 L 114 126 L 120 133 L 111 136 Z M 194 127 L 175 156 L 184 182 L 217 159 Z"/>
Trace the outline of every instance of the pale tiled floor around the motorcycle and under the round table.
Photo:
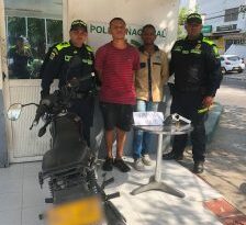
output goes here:
<path id="1" fill-rule="evenodd" d="M 38 214 L 47 205 L 47 187 L 40 189 L 37 173 L 41 162 L 16 164 L 0 169 L 0 225 L 43 225 Z M 210 185 L 175 161 L 163 164 L 163 179 L 186 193 L 179 199 L 159 191 L 138 195 L 130 192 L 148 182 L 154 167 L 146 172 L 134 169 L 130 173 L 109 172 L 115 182 L 107 193 L 121 192 L 112 202 L 121 210 L 128 225 L 220 225 L 217 218 L 203 207 L 203 201 L 221 198 Z M 99 171 L 99 180 L 101 171 Z"/>

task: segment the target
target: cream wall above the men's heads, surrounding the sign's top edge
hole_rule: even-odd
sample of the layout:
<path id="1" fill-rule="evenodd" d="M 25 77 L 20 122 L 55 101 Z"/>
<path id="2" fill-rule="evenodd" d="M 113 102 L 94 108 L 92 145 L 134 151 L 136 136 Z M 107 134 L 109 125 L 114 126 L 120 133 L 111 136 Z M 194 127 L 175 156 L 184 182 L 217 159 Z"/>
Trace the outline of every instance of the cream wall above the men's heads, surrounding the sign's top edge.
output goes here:
<path id="1" fill-rule="evenodd" d="M 157 29 L 167 27 L 165 49 L 169 50 L 177 37 L 179 0 L 64 0 L 65 38 L 68 40 L 69 24 L 72 20 L 109 23 L 115 16 L 123 18 L 127 24 L 144 25 L 153 23 Z M 76 7 L 75 7 L 76 5 Z"/>

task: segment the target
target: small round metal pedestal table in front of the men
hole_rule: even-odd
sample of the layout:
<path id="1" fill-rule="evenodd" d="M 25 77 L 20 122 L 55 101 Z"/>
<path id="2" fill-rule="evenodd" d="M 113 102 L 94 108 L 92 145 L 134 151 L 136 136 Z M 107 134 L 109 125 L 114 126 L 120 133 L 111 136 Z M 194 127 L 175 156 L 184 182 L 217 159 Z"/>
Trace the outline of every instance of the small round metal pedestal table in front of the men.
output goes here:
<path id="1" fill-rule="evenodd" d="M 131 194 L 139 194 L 150 190 L 158 190 L 175 196 L 183 198 L 185 193 L 181 191 L 174 189 L 161 181 L 161 161 L 163 161 L 163 137 L 164 135 L 180 135 L 190 133 L 193 128 L 192 125 L 163 125 L 163 126 L 143 126 L 143 125 L 134 125 L 134 128 L 142 130 L 144 132 L 153 133 L 158 135 L 158 146 L 157 146 L 157 156 L 156 156 L 156 169 L 155 175 L 149 178 L 149 182 L 147 184 L 143 184 L 136 189 L 134 189 Z"/>

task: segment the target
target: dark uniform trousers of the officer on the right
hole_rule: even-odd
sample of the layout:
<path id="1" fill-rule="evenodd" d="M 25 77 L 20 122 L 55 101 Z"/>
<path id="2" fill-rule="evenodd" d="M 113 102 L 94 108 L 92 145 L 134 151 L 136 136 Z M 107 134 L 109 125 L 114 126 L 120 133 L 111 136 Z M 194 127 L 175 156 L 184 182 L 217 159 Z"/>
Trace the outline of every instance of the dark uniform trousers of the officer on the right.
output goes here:
<path id="1" fill-rule="evenodd" d="M 192 154 L 194 161 L 204 161 L 205 153 L 205 127 L 204 113 L 199 114 L 202 106 L 202 95 L 199 92 L 178 92 L 172 94 L 171 113 L 178 113 L 189 120 L 193 125 L 191 132 Z M 187 145 L 188 134 L 176 135 L 172 143 L 172 153 L 182 155 Z"/>

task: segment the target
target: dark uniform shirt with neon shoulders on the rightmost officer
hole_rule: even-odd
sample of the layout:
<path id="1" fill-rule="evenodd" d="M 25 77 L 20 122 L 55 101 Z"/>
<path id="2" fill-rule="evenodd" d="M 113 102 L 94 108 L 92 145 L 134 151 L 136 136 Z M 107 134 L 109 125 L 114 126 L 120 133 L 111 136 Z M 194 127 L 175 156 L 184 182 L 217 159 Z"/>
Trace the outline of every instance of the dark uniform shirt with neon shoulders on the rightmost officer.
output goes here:
<path id="1" fill-rule="evenodd" d="M 177 41 L 171 49 L 170 72 L 177 91 L 202 91 L 215 95 L 222 79 L 216 46 L 201 34 L 198 40 Z"/>

